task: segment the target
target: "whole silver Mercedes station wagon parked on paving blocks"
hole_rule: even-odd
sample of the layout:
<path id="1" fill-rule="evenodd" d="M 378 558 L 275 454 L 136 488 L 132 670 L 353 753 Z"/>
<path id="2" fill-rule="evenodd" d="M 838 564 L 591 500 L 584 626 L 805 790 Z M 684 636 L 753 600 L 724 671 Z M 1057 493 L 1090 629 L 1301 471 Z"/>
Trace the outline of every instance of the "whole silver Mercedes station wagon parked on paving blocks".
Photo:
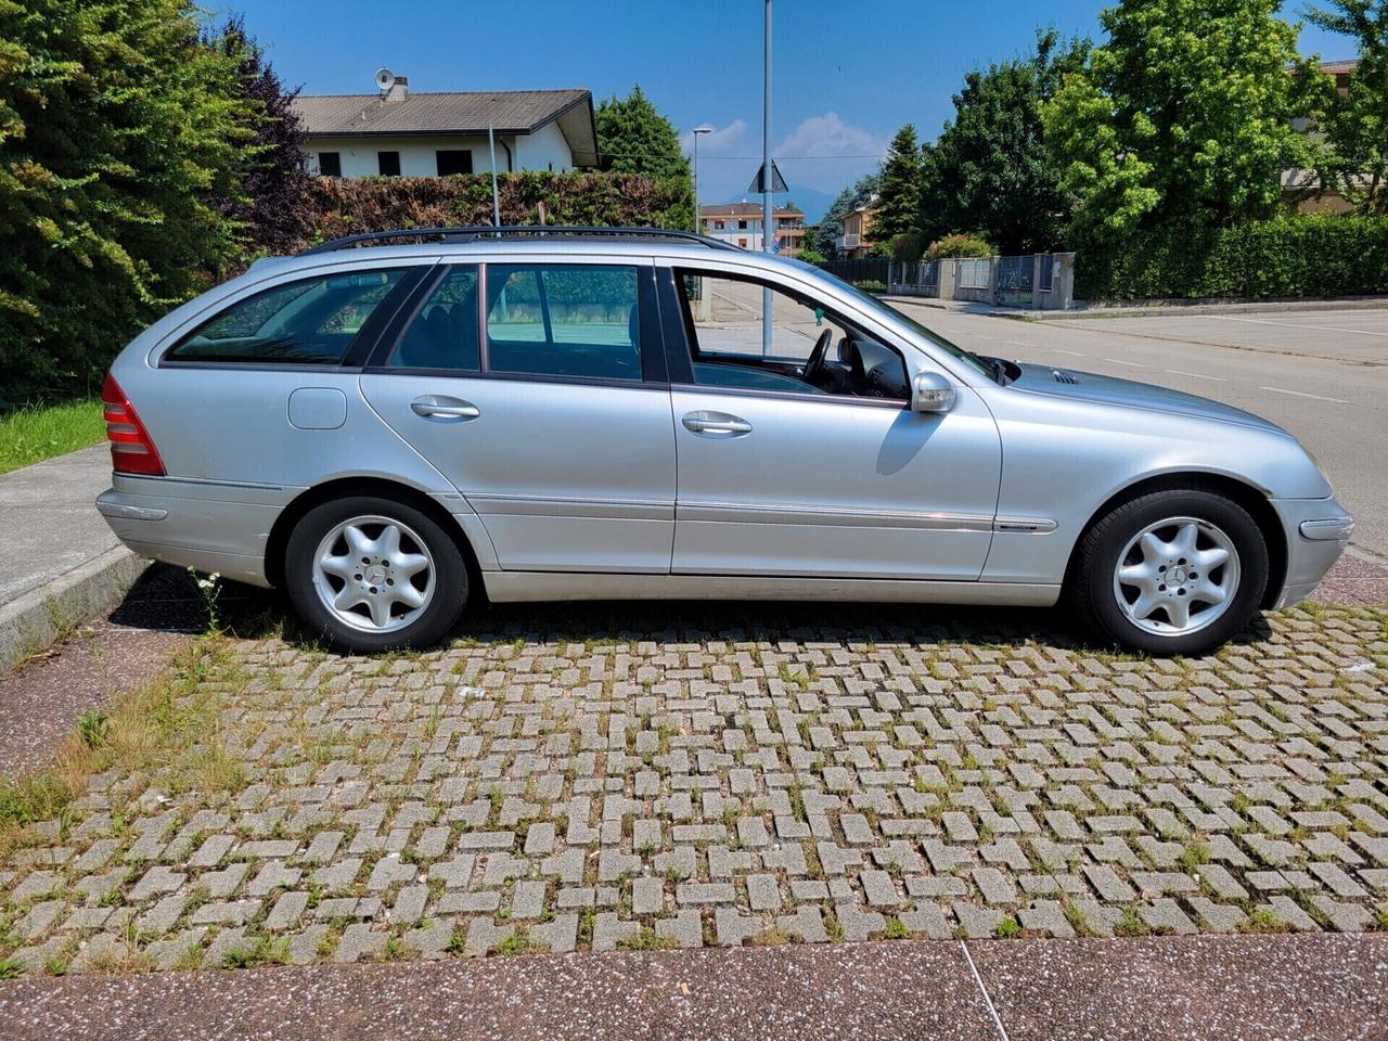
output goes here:
<path id="1" fill-rule="evenodd" d="M 358 235 L 140 333 L 97 508 L 355 651 L 494 602 L 1048 607 L 1194 654 L 1352 520 L 1285 430 L 976 357 L 798 261 L 648 229 Z"/>

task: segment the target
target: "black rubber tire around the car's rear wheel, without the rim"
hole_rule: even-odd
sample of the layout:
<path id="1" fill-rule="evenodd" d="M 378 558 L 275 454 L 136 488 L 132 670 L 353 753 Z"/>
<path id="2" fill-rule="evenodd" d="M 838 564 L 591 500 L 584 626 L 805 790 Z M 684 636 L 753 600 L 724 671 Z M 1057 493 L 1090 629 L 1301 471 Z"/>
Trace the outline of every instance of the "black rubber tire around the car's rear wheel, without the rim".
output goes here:
<path id="1" fill-rule="evenodd" d="M 319 544 L 339 525 L 354 518 L 384 518 L 403 525 L 404 529 L 408 529 L 404 536 L 404 545 L 409 547 L 408 551 L 414 554 L 418 550 L 414 544 L 422 544 L 426 555 L 433 561 L 433 583 L 426 602 L 415 611 L 415 616 L 407 623 L 400 619 L 390 622 L 400 626 L 390 632 L 371 632 L 369 609 L 366 608 L 359 608 L 362 613 L 359 623 L 344 622 L 323 602 L 315 583 L 315 557 Z M 373 529 L 365 527 L 364 530 Z M 347 576 L 348 580 L 351 577 Z M 323 576 L 321 580 L 332 583 L 343 579 Z M 416 577 L 403 580 L 428 582 L 428 579 Z M 375 654 L 400 647 L 437 644 L 466 607 L 468 586 L 468 566 L 448 533 L 416 507 L 384 496 L 351 496 L 314 507 L 294 525 L 285 547 L 285 589 L 298 616 L 315 633 L 321 633 L 337 647 L 348 651 Z M 329 589 L 333 587 L 329 586 Z M 404 613 L 408 608 L 387 609 Z"/>

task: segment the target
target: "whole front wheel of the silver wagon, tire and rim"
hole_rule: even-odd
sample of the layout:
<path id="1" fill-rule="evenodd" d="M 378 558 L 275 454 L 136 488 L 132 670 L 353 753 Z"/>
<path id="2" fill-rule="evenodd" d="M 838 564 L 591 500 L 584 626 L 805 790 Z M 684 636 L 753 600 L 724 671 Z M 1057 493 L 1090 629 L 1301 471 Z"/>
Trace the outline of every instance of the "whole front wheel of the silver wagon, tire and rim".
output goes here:
<path id="1" fill-rule="evenodd" d="M 1252 618 L 1267 543 L 1241 505 L 1170 489 L 1124 502 L 1081 539 L 1070 601 L 1103 640 L 1149 654 L 1203 654 Z"/>

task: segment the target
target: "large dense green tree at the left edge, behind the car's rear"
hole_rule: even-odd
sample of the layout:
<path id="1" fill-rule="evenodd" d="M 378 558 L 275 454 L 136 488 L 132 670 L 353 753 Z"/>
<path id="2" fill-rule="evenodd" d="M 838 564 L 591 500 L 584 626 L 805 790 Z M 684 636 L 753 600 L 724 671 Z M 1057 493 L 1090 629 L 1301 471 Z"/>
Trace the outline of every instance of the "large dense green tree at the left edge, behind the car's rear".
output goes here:
<path id="1" fill-rule="evenodd" d="M 253 112 L 186 0 L 0 0 L 0 398 L 90 387 L 240 251 Z"/>

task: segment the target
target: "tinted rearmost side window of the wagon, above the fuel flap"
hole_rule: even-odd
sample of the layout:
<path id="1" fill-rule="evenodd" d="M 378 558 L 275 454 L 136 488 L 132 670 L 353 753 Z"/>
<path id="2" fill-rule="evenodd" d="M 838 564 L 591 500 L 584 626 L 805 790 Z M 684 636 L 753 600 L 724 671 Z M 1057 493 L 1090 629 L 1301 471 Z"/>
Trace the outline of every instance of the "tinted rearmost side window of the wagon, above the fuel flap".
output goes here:
<path id="1" fill-rule="evenodd" d="M 165 354 L 172 361 L 341 365 L 407 268 L 321 275 L 237 300 Z"/>

